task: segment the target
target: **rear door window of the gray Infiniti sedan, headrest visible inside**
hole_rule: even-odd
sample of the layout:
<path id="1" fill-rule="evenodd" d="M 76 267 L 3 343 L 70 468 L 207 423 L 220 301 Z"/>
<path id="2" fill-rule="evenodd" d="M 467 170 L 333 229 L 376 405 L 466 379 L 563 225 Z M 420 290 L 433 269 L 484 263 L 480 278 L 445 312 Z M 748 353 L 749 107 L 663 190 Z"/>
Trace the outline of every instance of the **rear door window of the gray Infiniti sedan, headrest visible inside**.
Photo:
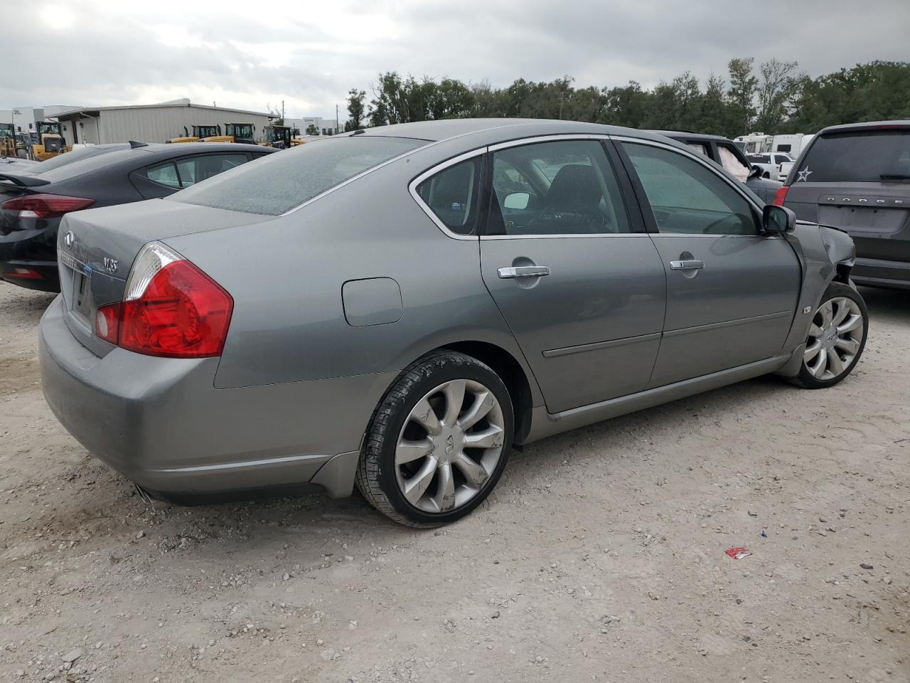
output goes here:
<path id="1" fill-rule="evenodd" d="M 493 152 L 488 235 L 630 232 L 619 184 L 597 140 Z"/>

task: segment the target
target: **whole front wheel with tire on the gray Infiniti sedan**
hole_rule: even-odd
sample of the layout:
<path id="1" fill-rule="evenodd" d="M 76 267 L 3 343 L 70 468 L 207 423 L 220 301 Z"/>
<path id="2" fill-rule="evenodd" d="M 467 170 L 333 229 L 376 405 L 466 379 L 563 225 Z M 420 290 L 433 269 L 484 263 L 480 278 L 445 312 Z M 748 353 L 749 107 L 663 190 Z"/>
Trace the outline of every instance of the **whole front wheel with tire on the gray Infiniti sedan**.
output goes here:
<path id="1" fill-rule="evenodd" d="M 791 382 L 804 389 L 824 389 L 843 382 L 865 348 L 869 312 L 852 287 L 832 282 L 809 325 L 803 363 Z"/>

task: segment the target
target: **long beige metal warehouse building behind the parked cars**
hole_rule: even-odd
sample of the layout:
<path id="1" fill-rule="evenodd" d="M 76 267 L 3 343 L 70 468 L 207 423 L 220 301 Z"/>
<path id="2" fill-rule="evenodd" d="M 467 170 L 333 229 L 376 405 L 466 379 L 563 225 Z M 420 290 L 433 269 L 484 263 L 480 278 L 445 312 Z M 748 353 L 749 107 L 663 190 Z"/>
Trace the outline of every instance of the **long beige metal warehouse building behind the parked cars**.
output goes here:
<path id="1" fill-rule="evenodd" d="M 66 144 L 108 142 L 167 142 L 184 135 L 184 127 L 192 133 L 192 126 L 221 126 L 226 123 L 251 123 L 256 138 L 263 135 L 263 127 L 274 118 L 272 115 L 243 109 L 208 107 L 191 104 L 188 99 L 177 99 L 157 105 L 136 107 L 85 107 L 60 112 L 56 118 L 64 127 Z"/>

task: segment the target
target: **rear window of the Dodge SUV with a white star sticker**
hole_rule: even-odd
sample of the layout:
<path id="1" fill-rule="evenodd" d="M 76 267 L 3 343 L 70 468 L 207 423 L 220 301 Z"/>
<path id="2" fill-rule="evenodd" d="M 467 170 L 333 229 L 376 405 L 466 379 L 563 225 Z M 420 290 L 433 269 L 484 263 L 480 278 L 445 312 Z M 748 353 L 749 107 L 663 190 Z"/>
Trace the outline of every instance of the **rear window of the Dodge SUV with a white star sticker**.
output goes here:
<path id="1" fill-rule="evenodd" d="M 808 149 L 799 170 L 797 182 L 910 181 L 910 130 L 824 135 Z"/>

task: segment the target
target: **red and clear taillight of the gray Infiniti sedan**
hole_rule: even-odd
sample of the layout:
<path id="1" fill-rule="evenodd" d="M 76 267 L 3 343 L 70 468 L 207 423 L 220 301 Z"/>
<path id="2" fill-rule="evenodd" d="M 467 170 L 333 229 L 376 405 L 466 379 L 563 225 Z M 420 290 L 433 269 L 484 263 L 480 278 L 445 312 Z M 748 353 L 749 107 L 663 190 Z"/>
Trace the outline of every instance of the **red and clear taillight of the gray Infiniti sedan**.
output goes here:
<path id="1" fill-rule="evenodd" d="M 136 353 L 221 355 L 234 300 L 215 280 L 158 242 L 136 257 L 124 301 L 98 308 L 95 333 Z"/>

